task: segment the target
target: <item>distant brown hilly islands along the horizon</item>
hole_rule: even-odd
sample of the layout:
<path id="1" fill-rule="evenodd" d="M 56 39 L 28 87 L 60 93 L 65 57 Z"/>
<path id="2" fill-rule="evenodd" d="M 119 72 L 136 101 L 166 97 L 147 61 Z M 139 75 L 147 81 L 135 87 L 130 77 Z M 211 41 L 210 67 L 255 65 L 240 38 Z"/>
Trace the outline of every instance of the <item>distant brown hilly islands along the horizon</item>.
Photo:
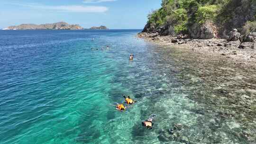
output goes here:
<path id="1" fill-rule="evenodd" d="M 79 25 L 70 25 L 66 22 L 57 22 L 53 24 L 21 24 L 18 26 L 9 26 L 2 30 L 83 30 L 84 28 Z M 105 26 L 91 27 L 89 29 L 108 29 Z"/>

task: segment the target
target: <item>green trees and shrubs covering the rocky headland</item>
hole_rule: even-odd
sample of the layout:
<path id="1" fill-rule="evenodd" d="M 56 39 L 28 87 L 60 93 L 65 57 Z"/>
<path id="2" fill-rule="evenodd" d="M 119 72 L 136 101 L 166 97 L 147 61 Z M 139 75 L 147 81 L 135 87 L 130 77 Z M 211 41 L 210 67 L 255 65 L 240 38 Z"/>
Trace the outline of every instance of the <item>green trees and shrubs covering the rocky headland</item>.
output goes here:
<path id="1" fill-rule="evenodd" d="M 148 23 L 155 29 L 171 26 L 176 34 L 188 33 L 189 27 L 201 26 L 208 20 L 219 29 L 241 29 L 248 20 L 256 20 L 255 8 L 256 0 L 162 0 L 162 8 L 148 15 Z M 245 27 L 249 24 L 253 23 Z"/>

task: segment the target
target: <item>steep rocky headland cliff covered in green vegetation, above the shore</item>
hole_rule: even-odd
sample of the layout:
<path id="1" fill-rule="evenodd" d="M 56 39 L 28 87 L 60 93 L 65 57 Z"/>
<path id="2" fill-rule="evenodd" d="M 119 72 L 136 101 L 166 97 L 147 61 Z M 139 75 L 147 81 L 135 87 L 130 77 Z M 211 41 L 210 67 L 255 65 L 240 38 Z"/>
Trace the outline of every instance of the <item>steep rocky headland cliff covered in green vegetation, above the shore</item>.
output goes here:
<path id="1" fill-rule="evenodd" d="M 256 0 L 162 0 L 143 32 L 210 39 L 228 38 L 234 28 L 242 35 L 256 30 Z"/>

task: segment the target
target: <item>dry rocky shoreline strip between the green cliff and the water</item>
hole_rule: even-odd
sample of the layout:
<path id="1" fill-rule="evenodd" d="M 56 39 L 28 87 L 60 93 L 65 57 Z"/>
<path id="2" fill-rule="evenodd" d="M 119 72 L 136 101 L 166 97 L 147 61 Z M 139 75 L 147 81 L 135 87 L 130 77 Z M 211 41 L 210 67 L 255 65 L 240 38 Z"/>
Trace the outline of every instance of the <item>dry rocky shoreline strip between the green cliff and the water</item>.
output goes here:
<path id="1" fill-rule="evenodd" d="M 169 45 L 174 48 L 189 50 L 201 55 L 221 56 L 234 61 L 234 64 L 249 64 L 256 66 L 256 43 L 228 41 L 225 39 L 190 39 L 188 36 L 159 36 L 155 33 L 139 33 L 137 37 L 159 45 Z"/>

